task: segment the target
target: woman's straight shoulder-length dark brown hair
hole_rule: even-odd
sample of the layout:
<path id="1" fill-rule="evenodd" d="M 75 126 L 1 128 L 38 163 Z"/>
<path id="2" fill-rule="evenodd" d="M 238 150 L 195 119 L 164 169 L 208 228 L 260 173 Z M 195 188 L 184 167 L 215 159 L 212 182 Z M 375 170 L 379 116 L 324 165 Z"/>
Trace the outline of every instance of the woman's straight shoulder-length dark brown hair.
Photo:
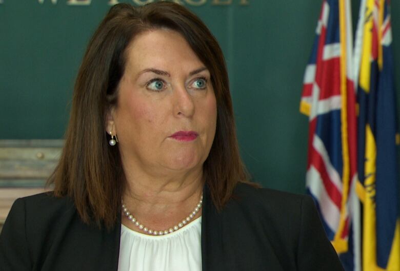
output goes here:
<path id="1" fill-rule="evenodd" d="M 181 5 L 158 2 L 142 7 L 113 6 L 86 50 L 75 82 L 71 116 L 61 160 L 49 179 L 56 196 L 73 198 L 82 220 L 111 228 L 118 217 L 125 174 L 118 148 L 110 148 L 106 114 L 117 102 L 125 51 L 139 33 L 168 28 L 180 33 L 211 74 L 217 102 L 214 141 L 204 178 L 217 209 L 247 182 L 239 156 L 225 59 L 205 24 Z"/>

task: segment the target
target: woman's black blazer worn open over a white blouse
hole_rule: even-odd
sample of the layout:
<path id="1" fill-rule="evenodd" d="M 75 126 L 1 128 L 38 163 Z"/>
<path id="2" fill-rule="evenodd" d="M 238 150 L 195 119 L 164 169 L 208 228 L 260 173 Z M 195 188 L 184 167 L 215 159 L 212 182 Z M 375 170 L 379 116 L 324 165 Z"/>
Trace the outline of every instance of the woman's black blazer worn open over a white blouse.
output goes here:
<path id="1" fill-rule="evenodd" d="M 205 187 L 203 271 L 343 271 L 310 197 L 247 184 L 234 195 L 218 213 Z M 70 198 L 20 198 L 0 235 L 0 270 L 116 271 L 120 237 L 121 220 L 112 231 L 84 224 Z"/>

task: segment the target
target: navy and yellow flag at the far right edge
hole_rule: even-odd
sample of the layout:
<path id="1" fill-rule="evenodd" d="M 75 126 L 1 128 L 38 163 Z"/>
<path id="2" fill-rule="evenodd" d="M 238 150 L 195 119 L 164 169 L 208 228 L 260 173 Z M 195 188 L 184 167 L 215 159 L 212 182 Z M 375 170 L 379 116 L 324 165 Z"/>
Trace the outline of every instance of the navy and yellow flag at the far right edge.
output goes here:
<path id="1" fill-rule="evenodd" d="M 363 205 L 364 271 L 400 270 L 396 109 L 390 2 L 363 0 L 356 37 L 357 193 Z M 357 71 L 357 73 L 358 73 Z"/>

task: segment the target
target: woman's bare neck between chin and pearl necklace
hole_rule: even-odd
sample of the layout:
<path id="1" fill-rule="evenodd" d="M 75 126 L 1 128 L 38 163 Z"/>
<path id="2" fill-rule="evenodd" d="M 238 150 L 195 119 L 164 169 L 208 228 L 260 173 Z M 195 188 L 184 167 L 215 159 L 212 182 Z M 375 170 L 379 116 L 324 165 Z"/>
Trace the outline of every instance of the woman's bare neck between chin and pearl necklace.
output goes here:
<path id="1" fill-rule="evenodd" d="M 164 230 L 182 221 L 193 211 L 203 192 L 203 170 L 169 177 L 127 176 L 123 201 L 132 215 L 147 227 Z M 199 211 L 196 216 L 201 216 Z M 127 217 L 123 224 L 138 231 Z"/>

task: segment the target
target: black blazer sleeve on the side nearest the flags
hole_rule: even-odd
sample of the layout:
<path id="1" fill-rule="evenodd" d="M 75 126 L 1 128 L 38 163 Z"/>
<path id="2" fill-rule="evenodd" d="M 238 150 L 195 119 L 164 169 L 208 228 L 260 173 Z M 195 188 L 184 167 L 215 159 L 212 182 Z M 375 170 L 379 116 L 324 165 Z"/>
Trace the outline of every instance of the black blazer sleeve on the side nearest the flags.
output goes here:
<path id="1" fill-rule="evenodd" d="M 310 197 L 303 198 L 301 212 L 297 249 L 298 270 L 344 271 L 333 246 L 326 237 L 315 204 Z"/>

